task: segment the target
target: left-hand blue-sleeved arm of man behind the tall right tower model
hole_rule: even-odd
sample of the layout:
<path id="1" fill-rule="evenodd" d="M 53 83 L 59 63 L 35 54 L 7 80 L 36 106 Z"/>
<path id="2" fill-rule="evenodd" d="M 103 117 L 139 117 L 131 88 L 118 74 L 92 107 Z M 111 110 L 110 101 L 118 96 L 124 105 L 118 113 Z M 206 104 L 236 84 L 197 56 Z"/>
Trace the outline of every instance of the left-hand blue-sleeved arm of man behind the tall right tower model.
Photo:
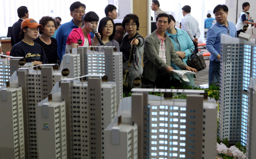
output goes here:
<path id="1" fill-rule="evenodd" d="M 206 49 L 210 52 L 211 55 L 213 55 L 213 57 L 217 57 L 220 54 L 215 50 L 215 48 L 213 48 L 214 44 L 216 41 L 216 35 L 213 31 L 213 29 L 209 29 L 207 31 L 207 41 L 206 41 Z"/>

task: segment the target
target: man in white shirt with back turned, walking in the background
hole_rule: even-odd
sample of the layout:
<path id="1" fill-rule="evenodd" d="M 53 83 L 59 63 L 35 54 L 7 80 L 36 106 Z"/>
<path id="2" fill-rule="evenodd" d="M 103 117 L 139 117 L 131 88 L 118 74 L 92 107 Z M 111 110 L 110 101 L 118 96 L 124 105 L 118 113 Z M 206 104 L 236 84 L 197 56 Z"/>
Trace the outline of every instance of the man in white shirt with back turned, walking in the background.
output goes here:
<path id="1" fill-rule="evenodd" d="M 200 29 L 197 19 L 190 15 L 191 7 L 184 6 L 182 8 L 182 14 L 184 18 L 181 22 L 181 29 L 186 31 L 195 45 L 195 52 L 198 52 L 198 38 L 200 37 Z"/>

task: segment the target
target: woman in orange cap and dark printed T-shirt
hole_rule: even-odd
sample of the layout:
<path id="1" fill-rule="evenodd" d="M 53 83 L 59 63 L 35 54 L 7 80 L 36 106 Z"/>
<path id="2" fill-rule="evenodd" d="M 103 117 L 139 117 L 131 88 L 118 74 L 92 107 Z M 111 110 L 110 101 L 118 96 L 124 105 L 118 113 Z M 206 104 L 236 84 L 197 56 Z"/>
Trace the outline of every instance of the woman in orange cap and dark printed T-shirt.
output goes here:
<path id="1" fill-rule="evenodd" d="M 43 25 L 38 24 L 34 19 L 27 18 L 21 23 L 20 38 L 22 41 L 13 46 L 10 56 L 25 57 L 26 62 L 33 62 L 34 65 L 48 64 L 43 48 L 33 42 L 37 38 L 38 28 Z"/>

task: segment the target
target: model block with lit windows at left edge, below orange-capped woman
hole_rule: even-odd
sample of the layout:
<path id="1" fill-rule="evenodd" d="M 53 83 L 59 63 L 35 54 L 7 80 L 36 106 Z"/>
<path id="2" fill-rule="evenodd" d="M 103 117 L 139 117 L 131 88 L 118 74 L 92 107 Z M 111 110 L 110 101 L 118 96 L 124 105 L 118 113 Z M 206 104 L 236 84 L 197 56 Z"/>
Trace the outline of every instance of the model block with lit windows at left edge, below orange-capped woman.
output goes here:
<path id="1" fill-rule="evenodd" d="M 0 57 L 0 87 L 10 80 L 13 72 L 18 68 L 33 67 L 33 63 L 26 63 L 23 66 L 20 66 L 19 60 L 23 57 L 12 57 L 5 54 L 0 54 Z"/>

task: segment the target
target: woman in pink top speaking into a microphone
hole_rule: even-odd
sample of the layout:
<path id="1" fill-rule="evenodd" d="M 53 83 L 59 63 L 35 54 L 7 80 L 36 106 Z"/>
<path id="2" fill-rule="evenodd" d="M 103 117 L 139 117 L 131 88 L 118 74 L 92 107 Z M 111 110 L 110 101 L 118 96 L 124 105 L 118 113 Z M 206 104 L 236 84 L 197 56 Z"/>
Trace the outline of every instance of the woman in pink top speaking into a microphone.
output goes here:
<path id="1" fill-rule="evenodd" d="M 93 29 L 97 29 L 99 17 L 95 12 L 88 12 L 82 18 L 84 25 L 82 28 L 73 29 L 67 38 L 66 42 L 66 53 L 69 53 L 69 50 L 76 48 L 78 40 L 82 40 L 82 44 L 79 46 L 91 46 L 91 35 L 89 32 L 93 32 Z"/>

